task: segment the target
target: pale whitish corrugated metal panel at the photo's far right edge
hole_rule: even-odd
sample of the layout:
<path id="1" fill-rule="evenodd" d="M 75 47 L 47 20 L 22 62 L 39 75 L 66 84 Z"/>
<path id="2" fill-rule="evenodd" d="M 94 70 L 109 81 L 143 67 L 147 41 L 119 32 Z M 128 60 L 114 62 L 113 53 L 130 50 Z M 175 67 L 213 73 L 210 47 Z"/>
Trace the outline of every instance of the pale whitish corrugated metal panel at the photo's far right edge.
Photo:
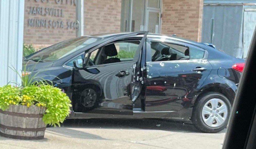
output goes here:
<path id="1" fill-rule="evenodd" d="M 245 9 L 243 17 L 243 57 L 247 57 L 256 26 L 256 8 Z"/>

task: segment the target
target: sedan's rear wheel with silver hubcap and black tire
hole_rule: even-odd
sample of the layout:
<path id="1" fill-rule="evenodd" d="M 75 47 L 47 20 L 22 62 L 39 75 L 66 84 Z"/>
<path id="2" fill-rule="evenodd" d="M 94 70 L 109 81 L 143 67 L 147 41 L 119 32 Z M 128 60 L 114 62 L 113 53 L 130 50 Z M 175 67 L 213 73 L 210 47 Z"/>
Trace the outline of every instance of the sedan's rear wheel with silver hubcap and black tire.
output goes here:
<path id="1" fill-rule="evenodd" d="M 231 108 L 231 102 L 226 96 L 217 92 L 208 92 L 199 96 L 195 103 L 192 123 L 202 132 L 217 133 L 227 127 Z"/>

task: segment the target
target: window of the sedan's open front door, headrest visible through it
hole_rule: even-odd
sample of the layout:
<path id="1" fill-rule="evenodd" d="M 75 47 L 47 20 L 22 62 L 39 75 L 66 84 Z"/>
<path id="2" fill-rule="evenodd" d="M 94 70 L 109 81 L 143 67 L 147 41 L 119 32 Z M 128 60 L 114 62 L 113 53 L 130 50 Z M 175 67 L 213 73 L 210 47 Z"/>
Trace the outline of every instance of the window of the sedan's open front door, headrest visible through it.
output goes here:
<path id="1" fill-rule="evenodd" d="M 107 44 L 90 55 L 94 65 L 132 61 L 140 41 L 123 41 Z"/>

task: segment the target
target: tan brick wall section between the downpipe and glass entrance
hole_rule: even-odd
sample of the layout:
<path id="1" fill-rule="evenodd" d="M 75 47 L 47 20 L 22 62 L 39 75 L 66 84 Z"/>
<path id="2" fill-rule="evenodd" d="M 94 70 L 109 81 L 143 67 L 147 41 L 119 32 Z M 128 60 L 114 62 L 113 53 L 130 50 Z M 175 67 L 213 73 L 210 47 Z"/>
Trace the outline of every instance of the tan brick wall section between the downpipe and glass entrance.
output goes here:
<path id="1" fill-rule="evenodd" d="M 121 0 L 86 0 L 85 34 L 120 32 Z"/>

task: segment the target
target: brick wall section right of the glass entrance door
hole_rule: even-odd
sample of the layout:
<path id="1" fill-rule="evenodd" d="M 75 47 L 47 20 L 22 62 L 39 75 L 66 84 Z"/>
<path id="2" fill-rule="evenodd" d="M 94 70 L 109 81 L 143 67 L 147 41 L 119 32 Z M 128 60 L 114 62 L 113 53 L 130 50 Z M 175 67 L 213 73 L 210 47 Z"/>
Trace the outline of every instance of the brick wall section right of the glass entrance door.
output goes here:
<path id="1" fill-rule="evenodd" d="M 163 0 L 162 34 L 201 41 L 203 0 Z"/>

